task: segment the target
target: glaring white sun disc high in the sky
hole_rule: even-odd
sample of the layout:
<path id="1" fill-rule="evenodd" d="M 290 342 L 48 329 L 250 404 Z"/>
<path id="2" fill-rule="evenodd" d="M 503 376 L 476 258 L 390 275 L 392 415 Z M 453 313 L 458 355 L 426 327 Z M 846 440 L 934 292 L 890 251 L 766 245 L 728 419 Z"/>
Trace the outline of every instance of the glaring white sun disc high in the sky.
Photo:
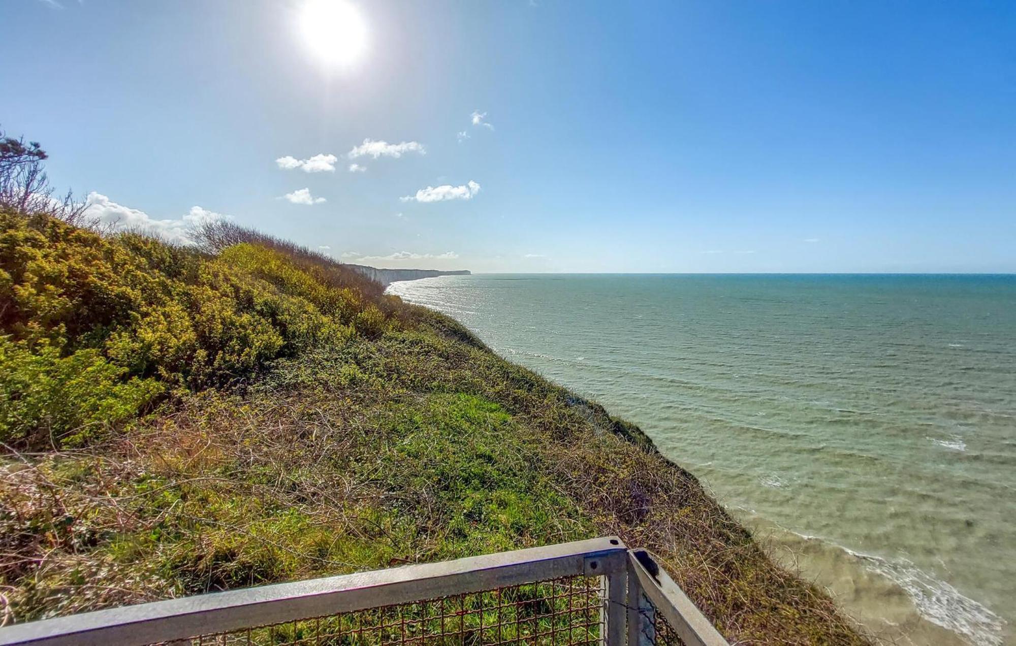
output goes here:
<path id="1" fill-rule="evenodd" d="M 300 33 L 307 49 L 327 65 L 348 66 L 367 49 L 367 23 L 345 0 L 306 0 Z"/>

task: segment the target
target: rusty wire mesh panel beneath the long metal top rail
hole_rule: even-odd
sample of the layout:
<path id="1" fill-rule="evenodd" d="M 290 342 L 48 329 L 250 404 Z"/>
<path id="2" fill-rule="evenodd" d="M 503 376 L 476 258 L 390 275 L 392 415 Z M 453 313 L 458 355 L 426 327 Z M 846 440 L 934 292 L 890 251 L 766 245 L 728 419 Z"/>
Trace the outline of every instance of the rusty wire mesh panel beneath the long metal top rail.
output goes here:
<path id="1" fill-rule="evenodd" d="M 385 605 L 173 644 L 258 646 L 388 644 L 598 644 L 606 621 L 599 577 L 567 577 Z"/>

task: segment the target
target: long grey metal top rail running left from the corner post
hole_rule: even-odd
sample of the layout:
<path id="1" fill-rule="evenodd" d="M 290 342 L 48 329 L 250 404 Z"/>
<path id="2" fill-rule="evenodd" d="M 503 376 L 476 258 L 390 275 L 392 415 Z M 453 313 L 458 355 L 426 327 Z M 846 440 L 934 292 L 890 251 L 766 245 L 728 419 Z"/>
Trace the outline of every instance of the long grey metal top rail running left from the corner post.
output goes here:
<path id="1" fill-rule="evenodd" d="M 295 619 L 627 569 L 617 536 L 198 594 L 0 629 L 2 644 L 147 644 Z"/>

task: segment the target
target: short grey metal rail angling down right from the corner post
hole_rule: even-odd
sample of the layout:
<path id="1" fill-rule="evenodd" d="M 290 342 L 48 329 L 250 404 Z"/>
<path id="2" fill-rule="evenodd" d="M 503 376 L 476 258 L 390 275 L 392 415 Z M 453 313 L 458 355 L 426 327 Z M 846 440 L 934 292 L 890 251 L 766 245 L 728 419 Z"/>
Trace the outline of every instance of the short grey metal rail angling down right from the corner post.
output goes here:
<path id="1" fill-rule="evenodd" d="M 653 567 L 654 571 L 651 574 L 642 565 L 643 562 Z M 656 565 L 650 553 L 644 550 L 629 551 L 628 563 L 631 578 L 637 580 L 642 588 L 642 594 L 652 603 L 655 611 L 674 628 L 685 644 L 729 646 L 716 627 L 692 603 L 666 572 Z"/>

